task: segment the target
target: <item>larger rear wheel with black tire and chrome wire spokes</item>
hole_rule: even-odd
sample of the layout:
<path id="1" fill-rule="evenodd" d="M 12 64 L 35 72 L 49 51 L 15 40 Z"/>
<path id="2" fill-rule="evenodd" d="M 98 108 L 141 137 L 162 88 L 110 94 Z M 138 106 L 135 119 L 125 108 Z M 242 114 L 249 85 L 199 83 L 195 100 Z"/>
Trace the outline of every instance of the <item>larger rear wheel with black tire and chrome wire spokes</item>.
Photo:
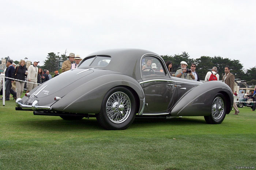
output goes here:
<path id="1" fill-rule="evenodd" d="M 106 130 L 125 130 L 135 119 L 135 109 L 136 103 L 132 92 L 124 87 L 115 87 L 105 94 L 101 112 L 96 118 Z"/>

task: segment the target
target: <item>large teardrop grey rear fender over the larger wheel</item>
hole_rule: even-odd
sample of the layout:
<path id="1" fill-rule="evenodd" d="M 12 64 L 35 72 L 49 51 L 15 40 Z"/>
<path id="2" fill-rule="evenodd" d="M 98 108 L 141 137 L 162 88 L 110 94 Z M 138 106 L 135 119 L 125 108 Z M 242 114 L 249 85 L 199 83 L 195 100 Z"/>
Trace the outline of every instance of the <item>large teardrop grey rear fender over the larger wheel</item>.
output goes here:
<path id="1" fill-rule="evenodd" d="M 145 94 L 139 82 L 124 74 L 107 74 L 94 78 L 71 90 L 59 101 L 52 105 L 52 109 L 63 112 L 97 114 L 105 94 L 116 86 L 128 86 L 139 97 L 140 109 L 143 107 Z"/>

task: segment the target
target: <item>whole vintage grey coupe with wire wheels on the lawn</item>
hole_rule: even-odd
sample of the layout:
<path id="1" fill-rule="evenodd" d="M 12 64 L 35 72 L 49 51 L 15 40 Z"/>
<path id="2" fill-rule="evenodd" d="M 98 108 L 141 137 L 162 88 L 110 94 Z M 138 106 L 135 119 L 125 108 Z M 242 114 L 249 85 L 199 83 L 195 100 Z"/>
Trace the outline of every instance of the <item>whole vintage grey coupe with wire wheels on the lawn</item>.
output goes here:
<path id="1" fill-rule="evenodd" d="M 124 130 L 135 117 L 204 116 L 207 123 L 219 124 L 232 106 L 233 94 L 226 84 L 171 77 L 158 54 L 140 49 L 92 53 L 77 69 L 16 100 L 16 110 L 65 120 L 96 117 L 107 130 Z"/>

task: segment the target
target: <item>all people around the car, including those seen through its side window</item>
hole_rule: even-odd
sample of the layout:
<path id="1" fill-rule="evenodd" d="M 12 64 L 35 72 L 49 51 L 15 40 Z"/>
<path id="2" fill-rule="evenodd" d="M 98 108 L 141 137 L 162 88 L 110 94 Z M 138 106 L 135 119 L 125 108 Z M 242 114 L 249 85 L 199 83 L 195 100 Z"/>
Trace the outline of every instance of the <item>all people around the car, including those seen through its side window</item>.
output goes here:
<path id="1" fill-rule="evenodd" d="M 68 59 L 63 62 L 63 65 L 61 67 L 62 72 L 66 72 L 71 69 L 75 69 L 82 58 L 79 55 L 75 55 L 74 53 L 69 53 Z M 6 63 L 6 70 L 4 70 L 6 77 L 11 77 L 18 79 L 16 81 L 16 91 L 12 88 L 12 83 L 14 80 L 6 78 L 6 90 L 5 90 L 5 100 L 10 100 L 10 94 L 13 95 L 14 100 L 16 98 L 20 98 L 22 95 L 25 78 L 27 78 L 27 93 L 29 93 L 32 89 L 38 86 L 38 84 L 42 84 L 43 82 L 46 82 L 52 78 L 52 75 L 49 74 L 49 70 L 42 70 L 42 68 L 38 68 L 39 61 L 35 60 L 32 65 L 29 66 L 29 68 L 26 68 L 26 62 L 24 60 L 20 60 L 19 64 L 15 64 L 12 60 L 8 60 Z M 196 72 L 196 63 L 191 63 L 190 69 L 187 69 L 188 63 L 185 61 L 180 62 L 181 69 L 178 69 L 176 73 L 172 74 L 172 65 L 173 63 L 171 61 L 167 61 L 166 67 L 170 73 L 170 76 L 175 76 L 179 78 L 184 78 L 187 80 L 194 80 L 194 81 L 200 81 L 199 75 Z M 163 68 L 161 67 L 160 70 L 157 70 L 157 64 L 153 63 L 153 59 L 146 59 L 145 64 L 142 66 L 142 70 L 144 71 L 150 71 L 150 69 L 153 69 L 155 71 L 163 72 Z M 59 75 L 58 71 L 54 72 L 54 77 Z M 234 93 L 234 75 L 230 73 L 230 68 L 228 66 L 225 67 L 225 75 L 222 78 L 222 82 L 227 84 Z M 19 81 L 21 80 L 21 81 Z M 212 70 L 210 72 L 207 72 L 204 82 L 208 81 L 218 81 L 219 80 L 219 74 L 217 73 L 217 67 L 212 67 Z M 0 85 L 2 83 L 2 80 L 0 80 Z M 0 86 L 2 87 L 2 85 Z M 256 92 L 256 86 L 254 89 L 254 94 Z M 3 95 L 3 89 L 0 91 L 0 96 Z M 254 95 L 254 101 L 256 101 L 256 95 Z M 237 108 L 236 103 L 233 103 L 233 107 L 235 109 L 234 115 L 238 115 L 239 110 Z M 254 105 L 254 108 L 252 111 L 255 111 L 256 104 Z"/>

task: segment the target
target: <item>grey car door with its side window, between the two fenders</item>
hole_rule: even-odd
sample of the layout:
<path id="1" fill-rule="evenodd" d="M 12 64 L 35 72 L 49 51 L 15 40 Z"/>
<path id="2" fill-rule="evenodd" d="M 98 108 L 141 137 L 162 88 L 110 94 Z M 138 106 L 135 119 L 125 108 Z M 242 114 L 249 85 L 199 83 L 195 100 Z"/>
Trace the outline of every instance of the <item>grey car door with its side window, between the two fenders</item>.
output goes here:
<path id="1" fill-rule="evenodd" d="M 145 55 L 141 60 L 141 76 L 146 96 L 144 113 L 168 114 L 176 93 L 163 60 L 156 55 Z"/>

